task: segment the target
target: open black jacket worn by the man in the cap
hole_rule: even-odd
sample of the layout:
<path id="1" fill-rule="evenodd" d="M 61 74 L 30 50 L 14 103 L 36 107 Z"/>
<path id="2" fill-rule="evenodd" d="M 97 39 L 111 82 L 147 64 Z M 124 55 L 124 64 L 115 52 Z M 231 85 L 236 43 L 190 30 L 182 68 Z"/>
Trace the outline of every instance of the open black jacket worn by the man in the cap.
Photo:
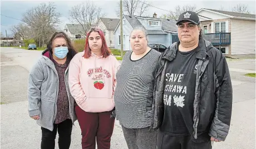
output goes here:
<path id="1" fill-rule="evenodd" d="M 164 116 L 164 78 L 166 64 L 176 58 L 178 44 L 174 43 L 160 56 L 153 71 L 147 99 L 147 116 L 151 129 L 158 129 Z M 211 137 L 224 141 L 228 135 L 232 112 L 232 84 L 228 64 L 220 50 L 204 40 L 199 40 L 196 50 L 198 69 L 194 99 L 194 125 L 189 129 L 195 139 L 198 132 L 208 131 Z"/>

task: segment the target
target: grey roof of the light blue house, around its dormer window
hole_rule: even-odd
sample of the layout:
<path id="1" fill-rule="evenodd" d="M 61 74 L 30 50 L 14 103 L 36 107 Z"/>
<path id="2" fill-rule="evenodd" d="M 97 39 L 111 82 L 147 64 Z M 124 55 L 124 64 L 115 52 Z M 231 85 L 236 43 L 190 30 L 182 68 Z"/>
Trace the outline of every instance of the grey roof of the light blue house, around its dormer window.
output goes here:
<path id="1" fill-rule="evenodd" d="M 131 24 L 132 28 L 135 27 L 145 27 L 140 23 L 140 21 L 136 18 L 137 16 L 128 16 L 124 15 L 127 21 Z M 153 18 L 153 17 L 141 17 L 141 18 L 151 18 L 151 19 L 159 19 L 162 22 L 162 30 L 147 30 L 148 33 L 165 33 L 163 30 L 168 30 L 170 32 L 177 32 L 176 22 L 173 19 L 161 19 L 161 18 Z"/>

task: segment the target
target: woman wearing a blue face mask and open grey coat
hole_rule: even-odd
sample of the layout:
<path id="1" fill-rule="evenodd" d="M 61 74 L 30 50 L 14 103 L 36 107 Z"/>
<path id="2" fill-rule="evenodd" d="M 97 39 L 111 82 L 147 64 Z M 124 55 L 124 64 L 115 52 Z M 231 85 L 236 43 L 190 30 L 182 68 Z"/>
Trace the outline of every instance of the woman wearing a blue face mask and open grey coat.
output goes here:
<path id="1" fill-rule="evenodd" d="M 52 35 L 47 49 L 33 66 L 28 79 L 28 114 L 42 129 L 42 149 L 68 149 L 76 120 L 75 100 L 68 88 L 68 65 L 77 53 L 63 32 Z"/>

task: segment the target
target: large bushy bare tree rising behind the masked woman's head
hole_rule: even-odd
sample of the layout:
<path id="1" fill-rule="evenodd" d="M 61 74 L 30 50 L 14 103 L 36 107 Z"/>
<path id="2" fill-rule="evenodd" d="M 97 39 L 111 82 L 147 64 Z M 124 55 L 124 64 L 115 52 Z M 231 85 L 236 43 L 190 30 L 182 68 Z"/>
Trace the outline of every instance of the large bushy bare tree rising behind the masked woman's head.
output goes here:
<path id="1" fill-rule="evenodd" d="M 41 44 L 45 45 L 48 38 L 56 31 L 60 23 L 61 14 L 56 12 L 53 2 L 41 3 L 39 6 L 29 9 L 23 15 L 22 21 L 32 30 L 32 37 Z"/>

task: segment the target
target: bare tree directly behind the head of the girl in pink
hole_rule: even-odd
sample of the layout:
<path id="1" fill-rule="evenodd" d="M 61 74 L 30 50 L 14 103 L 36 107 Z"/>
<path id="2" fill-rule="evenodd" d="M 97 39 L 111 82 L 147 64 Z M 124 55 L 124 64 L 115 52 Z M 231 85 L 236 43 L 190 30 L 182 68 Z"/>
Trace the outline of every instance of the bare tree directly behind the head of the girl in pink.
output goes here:
<path id="1" fill-rule="evenodd" d="M 68 18 L 74 24 L 81 25 L 82 29 L 77 29 L 77 32 L 86 37 L 87 31 L 99 24 L 99 18 L 105 17 L 106 14 L 101 12 L 101 8 L 95 6 L 92 1 L 86 1 L 86 3 L 78 4 L 71 8 L 70 18 Z"/>

